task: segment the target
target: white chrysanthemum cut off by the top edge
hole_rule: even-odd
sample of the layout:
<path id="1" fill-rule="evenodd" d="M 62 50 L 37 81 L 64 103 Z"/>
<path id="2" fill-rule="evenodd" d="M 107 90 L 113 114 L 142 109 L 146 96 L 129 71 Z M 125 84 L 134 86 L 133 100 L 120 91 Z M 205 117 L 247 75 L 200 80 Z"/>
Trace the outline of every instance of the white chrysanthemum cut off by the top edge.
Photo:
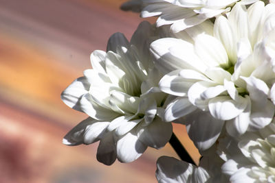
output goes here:
<path id="1" fill-rule="evenodd" d="M 157 27 L 171 25 L 173 32 L 198 25 L 207 19 L 230 11 L 239 0 L 142 0 L 142 17 L 159 16 Z M 241 0 L 242 4 L 258 0 Z"/>

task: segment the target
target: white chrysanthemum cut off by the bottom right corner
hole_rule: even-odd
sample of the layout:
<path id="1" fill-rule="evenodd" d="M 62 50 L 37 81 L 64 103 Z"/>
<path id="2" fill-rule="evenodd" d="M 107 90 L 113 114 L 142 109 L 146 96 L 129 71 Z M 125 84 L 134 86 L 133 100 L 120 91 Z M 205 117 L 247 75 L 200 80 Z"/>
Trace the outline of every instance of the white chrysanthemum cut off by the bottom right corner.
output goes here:
<path id="1" fill-rule="evenodd" d="M 239 140 L 230 138 L 221 143 L 221 157 L 226 160 L 222 171 L 230 175 L 230 182 L 275 182 L 274 122 L 259 132 L 245 133 Z"/>

